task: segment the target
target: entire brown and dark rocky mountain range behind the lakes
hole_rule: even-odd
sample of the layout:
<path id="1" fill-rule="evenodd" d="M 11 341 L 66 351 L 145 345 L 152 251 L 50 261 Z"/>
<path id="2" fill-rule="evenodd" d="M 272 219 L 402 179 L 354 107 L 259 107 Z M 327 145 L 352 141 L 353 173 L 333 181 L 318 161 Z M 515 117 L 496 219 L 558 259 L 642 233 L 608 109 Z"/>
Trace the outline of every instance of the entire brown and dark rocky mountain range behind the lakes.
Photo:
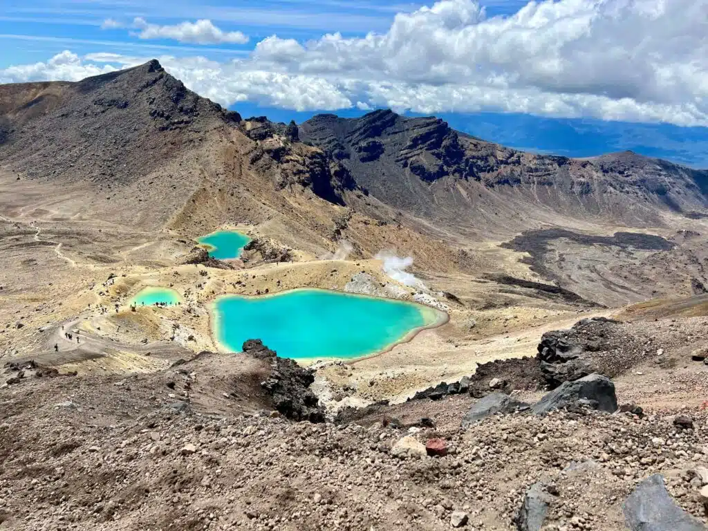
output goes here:
<path id="1" fill-rule="evenodd" d="M 195 166 L 205 150 L 217 165 L 209 171 Z M 278 206 L 283 194 L 307 189 L 373 218 L 393 210 L 478 236 L 568 219 L 658 226 L 664 215 L 708 208 L 708 171 L 632 152 L 533 154 L 391 110 L 316 115 L 299 126 L 244 120 L 155 60 L 77 83 L 0 86 L 0 159 L 30 178 L 169 196 L 153 216 L 193 209 L 190 194 L 204 193 L 198 183 L 217 177 L 233 190 L 224 202 L 248 196 L 290 216 Z"/>

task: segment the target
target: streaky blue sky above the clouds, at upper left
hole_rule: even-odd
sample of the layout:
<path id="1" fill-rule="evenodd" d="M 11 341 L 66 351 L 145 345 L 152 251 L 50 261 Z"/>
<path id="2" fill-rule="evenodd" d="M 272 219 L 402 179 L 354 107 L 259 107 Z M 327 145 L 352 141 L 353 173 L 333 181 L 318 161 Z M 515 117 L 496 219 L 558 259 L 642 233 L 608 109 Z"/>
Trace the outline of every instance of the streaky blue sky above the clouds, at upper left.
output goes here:
<path id="1" fill-rule="evenodd" d="M 491 15 L 510 14 L 526 2 L 490 0 L 483 2 Z M 114 52 L 150 55 L 165 52 L 224 59 L 246 55 L 253 44 L 270 35 L 309 40 L 325 33 L 364 36 L 385 32 L 396 13 L 411 12 L 424 3 L 396 3 L 381 0 L 3 0 L 0 14 L 0 68 L 12 64 L 43 61 L 64 50 L 79 55 Z M 130 21 L 142 17 L 161 25 L 208 18 L 219 28 L 249 35 L 244 45 L 198 46 L 169 39 L 136 42 L 125 32 L 101 29 L 107 19 Z"/>

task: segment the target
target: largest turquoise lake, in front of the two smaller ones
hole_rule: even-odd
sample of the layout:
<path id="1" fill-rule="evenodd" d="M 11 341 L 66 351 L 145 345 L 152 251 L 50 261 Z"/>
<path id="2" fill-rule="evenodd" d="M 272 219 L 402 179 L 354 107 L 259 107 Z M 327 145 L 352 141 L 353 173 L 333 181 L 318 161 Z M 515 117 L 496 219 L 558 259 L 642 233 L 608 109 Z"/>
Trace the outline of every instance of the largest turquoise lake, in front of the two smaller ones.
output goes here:
<path id="1" fill-rule="evenodd" d="M 261 339 L 283 358 L 361 358 L 447 316 L 410 302 L 326 290 L 264 297 L 226 295 L 214 303 L 213 330 L 225 350 Z"/>

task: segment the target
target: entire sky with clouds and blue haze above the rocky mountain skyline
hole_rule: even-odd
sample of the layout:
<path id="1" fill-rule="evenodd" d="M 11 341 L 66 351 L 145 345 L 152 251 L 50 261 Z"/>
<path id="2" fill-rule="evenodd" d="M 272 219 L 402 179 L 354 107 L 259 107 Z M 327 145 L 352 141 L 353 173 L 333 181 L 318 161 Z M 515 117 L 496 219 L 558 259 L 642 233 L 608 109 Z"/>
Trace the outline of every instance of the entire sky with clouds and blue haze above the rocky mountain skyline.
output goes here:
<path id="1" fill-rule="evenodd" d="M 708 0 L 0 0 L 0 83 L 159 59 L 244 116 L 375 108 L 708 167 Z"/>

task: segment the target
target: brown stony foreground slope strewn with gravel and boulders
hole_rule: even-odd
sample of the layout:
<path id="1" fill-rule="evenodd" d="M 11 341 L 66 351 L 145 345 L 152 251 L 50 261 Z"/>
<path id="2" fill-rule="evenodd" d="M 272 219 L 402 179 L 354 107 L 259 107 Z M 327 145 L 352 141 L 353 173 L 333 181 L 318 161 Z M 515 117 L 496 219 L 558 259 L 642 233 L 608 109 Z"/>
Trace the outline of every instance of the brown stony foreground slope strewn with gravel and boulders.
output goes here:
<path id="1" fill-rule="evenodd" d="M 571 344 L 585 372 L 606 356 L 592 358 L 602 349 L 583 341 L 612 343 L 619 326 L 585 321 L 545 336 L 539 358 L 521 363 L 540 366 L 549 345 Z M 641 382 L 593 373 L 550 392 L 510 390 L 511 379 L 481 367 L 466 392 L 457 382 L 455 394 L 333 422 L 310 371 L 259 342 L 244 350 L 128 377 L 6 367 L 0 527 L 707 529 L 708 411 L 678 401 L 708 396 L 701 353 L 673 368 L 629 364 L 650 378 Z M 502 375 L 503 364 L 489 365 Z M 477 399 L 482 379 L 489 391 Z M 641 408 L 660 392 L 663 405 Z"/>

